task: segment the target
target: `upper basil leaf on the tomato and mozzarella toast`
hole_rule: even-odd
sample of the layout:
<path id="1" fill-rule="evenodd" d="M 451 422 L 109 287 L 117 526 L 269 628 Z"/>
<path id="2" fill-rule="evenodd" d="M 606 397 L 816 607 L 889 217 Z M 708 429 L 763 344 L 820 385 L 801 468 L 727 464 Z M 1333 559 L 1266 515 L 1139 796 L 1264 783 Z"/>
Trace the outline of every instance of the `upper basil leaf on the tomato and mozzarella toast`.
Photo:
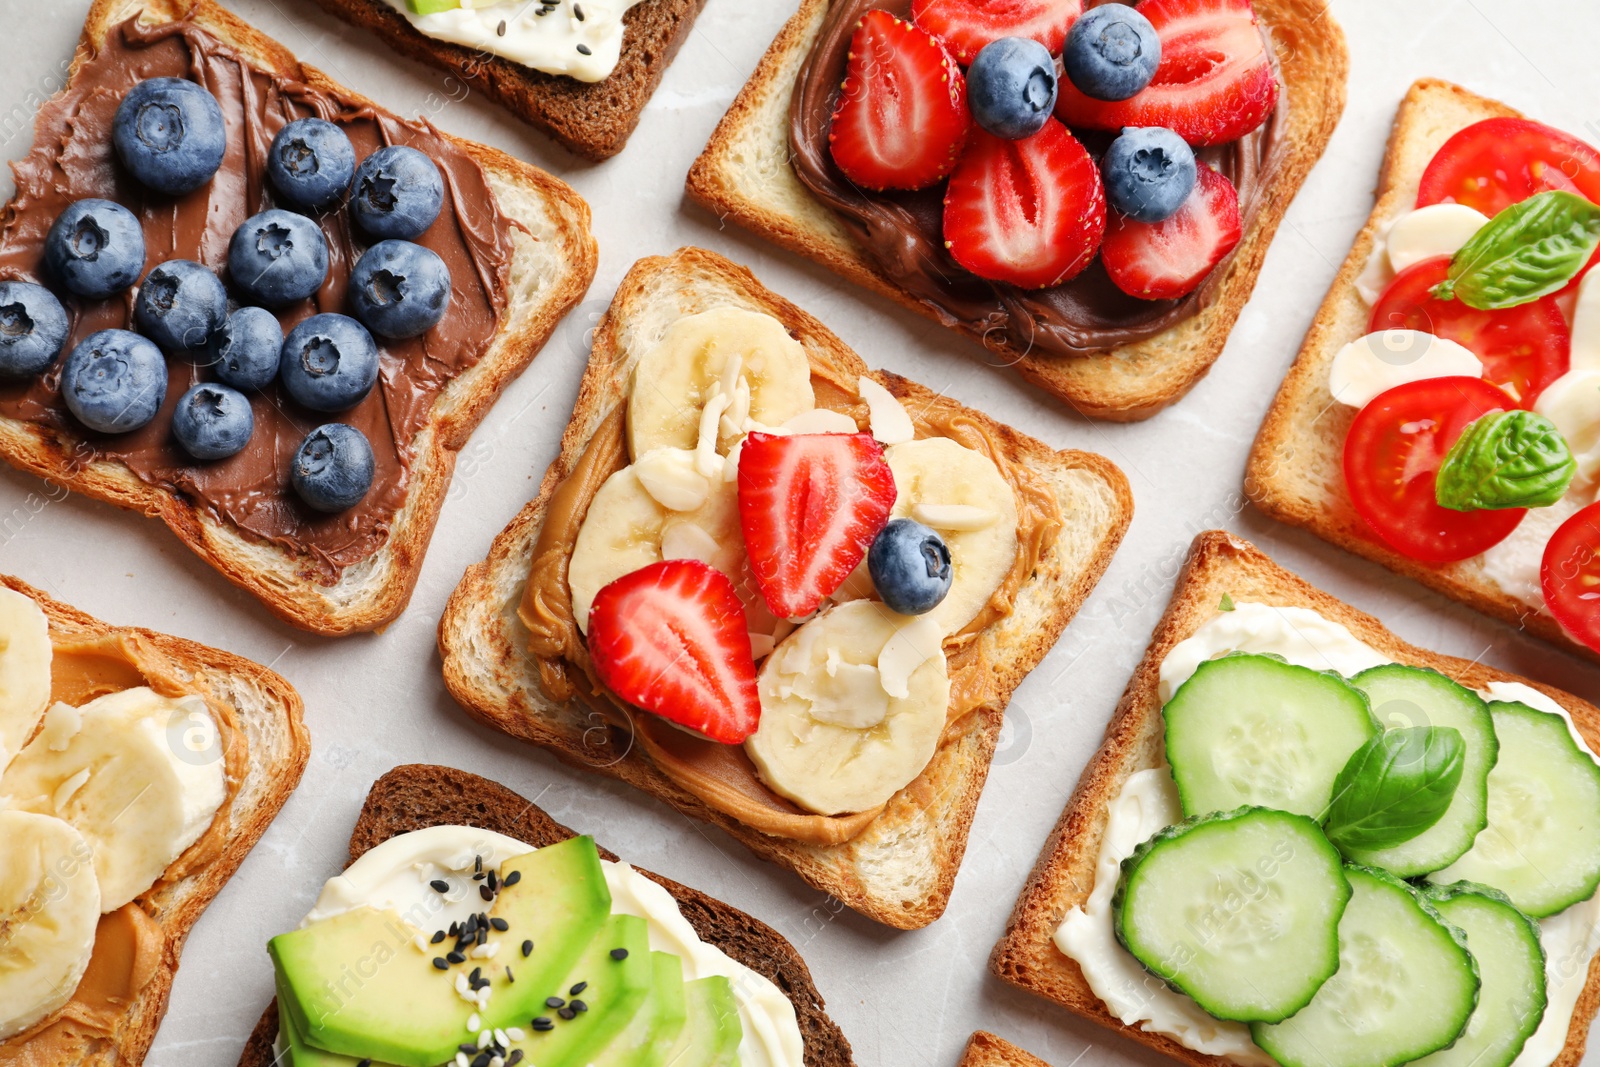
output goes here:
<path id="1" fill-rule="evenodd" d="M 1442 301 L 1494 310 L 1528 304 L 1573 280 L 1600 245 L 1600 206 L 1550 190 L 1514 203 L 1472 235 L 1434 286 Z"/>

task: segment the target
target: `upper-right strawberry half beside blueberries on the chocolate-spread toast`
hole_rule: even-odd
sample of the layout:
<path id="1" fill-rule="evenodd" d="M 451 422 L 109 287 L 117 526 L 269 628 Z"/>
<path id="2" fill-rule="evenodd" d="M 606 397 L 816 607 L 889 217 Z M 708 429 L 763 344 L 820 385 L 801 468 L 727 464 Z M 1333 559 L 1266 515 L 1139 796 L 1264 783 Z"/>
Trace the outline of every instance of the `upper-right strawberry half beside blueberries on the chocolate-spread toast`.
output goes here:
<path id="1" fill-rule="evenodd" d="M 1226 144 L 1267 120 L 1278 80 L 1250 0 L 1144 0 L 1139 13 L 1162 38 L 1155 78 L 1125 101 L 1098 101 L 1061 78 L 1061 122 L 1086 130 L 1166 126 L 1189 144 Z"/>

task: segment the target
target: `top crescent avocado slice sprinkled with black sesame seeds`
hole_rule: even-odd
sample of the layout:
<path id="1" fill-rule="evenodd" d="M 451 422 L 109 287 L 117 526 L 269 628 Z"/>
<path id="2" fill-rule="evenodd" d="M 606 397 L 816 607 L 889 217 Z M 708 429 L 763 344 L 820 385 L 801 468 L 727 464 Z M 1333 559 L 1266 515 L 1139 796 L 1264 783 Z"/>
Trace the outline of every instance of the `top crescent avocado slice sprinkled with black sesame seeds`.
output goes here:
<path id="1" fill-rule="evenodd" d="M 502 945 L 493 960 L 467 958 L 440 971 L 432 950 L 416 950 L 413 926 L 395 912 L 370 907 L 274 937 L 267 950 L 304 1043 L 398 1067 L 451 1061 L 475 1011 L 456 995 L 456 977 L 472 971 L 491 985 L 480 1025 L 526 1025 L 606 923 L 611 891 L 587 837 L 510 859 L 498 880 L 502 888 L 490 913 L 506 920 L 507 929 L 491 934 Z M 520 947 L 530 941 L 533 952 L 523 957 Z M 437 955 L 443 958 L 451 947 L 445 941 Z"/>

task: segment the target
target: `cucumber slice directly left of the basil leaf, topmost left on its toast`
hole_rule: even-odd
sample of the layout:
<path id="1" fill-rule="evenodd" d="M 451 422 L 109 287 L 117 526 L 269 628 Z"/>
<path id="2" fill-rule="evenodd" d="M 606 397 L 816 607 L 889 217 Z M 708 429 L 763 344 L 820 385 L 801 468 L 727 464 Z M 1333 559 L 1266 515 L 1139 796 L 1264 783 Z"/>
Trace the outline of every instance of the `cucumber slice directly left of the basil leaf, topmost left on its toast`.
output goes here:
<path id="1" fill-rule="evenodd" d="M 1250 653 L 1200 664 L 1162 718 L 1186 816 L 1259 805 L 1320 819 L 1333 779 L 1379 729 L 1339 675 Z"/>

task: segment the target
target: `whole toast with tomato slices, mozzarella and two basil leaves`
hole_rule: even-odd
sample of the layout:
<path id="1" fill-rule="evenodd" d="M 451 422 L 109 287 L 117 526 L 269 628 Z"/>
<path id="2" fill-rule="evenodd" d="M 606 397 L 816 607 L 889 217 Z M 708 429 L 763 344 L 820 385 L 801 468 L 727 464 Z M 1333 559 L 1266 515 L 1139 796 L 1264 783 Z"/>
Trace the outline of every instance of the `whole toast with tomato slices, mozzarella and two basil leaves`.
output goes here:
<path id="1" fill-rule="evenodd" d="M 1600 152 L 1413 85 L 1256 437 L 1251 501 L 1600 657 L 1597 246 Z"/>

